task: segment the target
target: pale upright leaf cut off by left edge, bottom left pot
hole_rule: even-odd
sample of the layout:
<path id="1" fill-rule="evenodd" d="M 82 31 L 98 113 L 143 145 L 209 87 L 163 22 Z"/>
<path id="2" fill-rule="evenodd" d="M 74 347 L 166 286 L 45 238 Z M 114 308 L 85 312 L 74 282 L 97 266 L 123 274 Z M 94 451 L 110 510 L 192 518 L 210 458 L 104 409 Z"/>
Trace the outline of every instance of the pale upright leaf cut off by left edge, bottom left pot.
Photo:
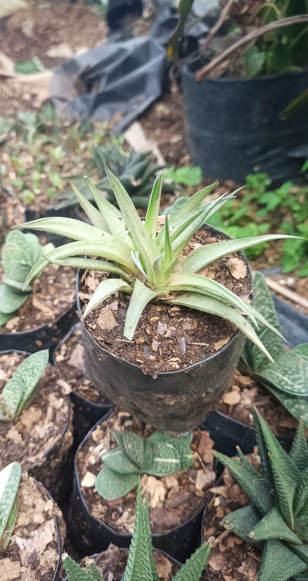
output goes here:
<path id="1" fill-rule="evenodd" d="M 18 462 L 8 464 L 0 472 L 0 554 L 8 546 L 15 526 L 20 476 L 21 468 Z"/>

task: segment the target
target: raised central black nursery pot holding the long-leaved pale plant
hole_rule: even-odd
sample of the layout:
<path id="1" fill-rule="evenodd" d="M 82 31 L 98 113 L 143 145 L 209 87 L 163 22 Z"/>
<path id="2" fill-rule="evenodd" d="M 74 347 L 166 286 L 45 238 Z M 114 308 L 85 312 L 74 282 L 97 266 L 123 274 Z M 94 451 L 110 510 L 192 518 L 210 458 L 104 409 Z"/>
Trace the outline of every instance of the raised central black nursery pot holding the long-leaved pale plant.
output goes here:
<path id="1" fill-rule="evenodd" d="M 205 228 L 212 235 L 222 234 L 212 226 L 205 225 Z M 242 252 L 239 254 L 251 277 L 245 255 Z M 79 272 L 76 295 L 81 318 L 78 292 Z M 229 343 L 211 356 L 183 370 L 158 373 L 154 379 L 144 374 L 137 365 L 103 349 L 83 321 L 81 332 L 86 376 L 91 383 L 106 393 L 108 399 L 121 410 L 157 429 L 173 432 L 195 428 L 211 412 L 233 376 L 245 340 L 243 333 L 237 331 Z"/>

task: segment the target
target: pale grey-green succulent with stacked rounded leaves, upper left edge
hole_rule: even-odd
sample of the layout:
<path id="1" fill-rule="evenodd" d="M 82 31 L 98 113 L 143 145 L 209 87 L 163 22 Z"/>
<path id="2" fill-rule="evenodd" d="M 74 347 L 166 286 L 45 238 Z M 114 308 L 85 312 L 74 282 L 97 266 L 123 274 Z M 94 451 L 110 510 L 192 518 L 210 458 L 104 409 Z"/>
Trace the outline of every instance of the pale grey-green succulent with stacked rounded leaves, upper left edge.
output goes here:
<path id="1" fill-rule="evenodd" d="M 16 231 L 6 236 L 1 260 L 5 278 L 0 285 L 0 327 L 14 317 L 27 300 L 32 287 L 24 287 L 24 281 L 37 260 L 52 249 L 53 244 L 41 246 L 35 234 Z"/>

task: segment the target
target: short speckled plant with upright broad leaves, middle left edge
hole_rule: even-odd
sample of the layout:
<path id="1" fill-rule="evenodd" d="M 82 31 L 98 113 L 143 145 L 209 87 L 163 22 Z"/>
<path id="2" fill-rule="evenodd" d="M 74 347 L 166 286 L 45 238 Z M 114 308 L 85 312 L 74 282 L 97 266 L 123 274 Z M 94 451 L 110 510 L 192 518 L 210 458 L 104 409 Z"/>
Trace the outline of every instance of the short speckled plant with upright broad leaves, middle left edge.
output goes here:
<path id="1" fill-rule="evenodd" d="M 30 406 L 35 388 L 48 365 L 48 356 L 48 349 L 33 353 L 5 384 L 0 393 L 0 423 L 15 420 Z"/>

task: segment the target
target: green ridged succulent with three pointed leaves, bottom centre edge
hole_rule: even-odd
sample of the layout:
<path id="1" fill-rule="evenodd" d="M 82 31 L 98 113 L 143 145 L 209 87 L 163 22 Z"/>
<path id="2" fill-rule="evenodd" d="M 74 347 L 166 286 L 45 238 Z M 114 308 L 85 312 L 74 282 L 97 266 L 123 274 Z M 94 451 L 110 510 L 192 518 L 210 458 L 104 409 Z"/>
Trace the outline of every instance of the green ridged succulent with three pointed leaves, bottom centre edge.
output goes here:
<path id="1" fill-rule="evenodd" d="M 177 571 L 172 581 L 199 581 L 210 551 L 210 546 L 202 544 Z M 103 581 L 96 565 L 91 564 L 83 569 L 67 554 L 63 555 L 63 565 L 68 581 Z M 160 581 L 154 563 L 148 506 L 147 502 L 143 504 L 140 487 L 133 538 L 122 581 Z"/>

